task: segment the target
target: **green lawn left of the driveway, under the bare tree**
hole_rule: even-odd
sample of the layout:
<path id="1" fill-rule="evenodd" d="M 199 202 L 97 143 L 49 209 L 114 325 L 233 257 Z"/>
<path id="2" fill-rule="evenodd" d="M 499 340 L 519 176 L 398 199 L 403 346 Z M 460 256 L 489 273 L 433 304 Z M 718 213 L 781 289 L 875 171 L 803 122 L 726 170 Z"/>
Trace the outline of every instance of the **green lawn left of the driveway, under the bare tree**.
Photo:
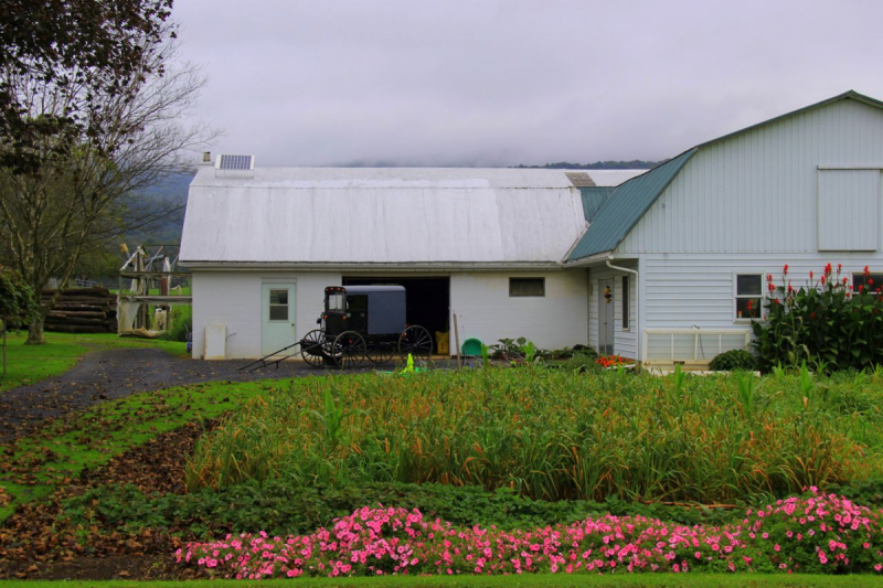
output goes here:
<path id="1" fill-rule="evenodd" d="M 7 375 L 0 370 L 0 393 L 17 386 L 63 374 L 83 355 L 97 349 L 159 348 L 177 355 L 185 353 L 184 343 L 156 339 L 123 339 L 115 333 L 45 333 L 45 345 L 25 345 L 24 331 L 7 334 Z"/>

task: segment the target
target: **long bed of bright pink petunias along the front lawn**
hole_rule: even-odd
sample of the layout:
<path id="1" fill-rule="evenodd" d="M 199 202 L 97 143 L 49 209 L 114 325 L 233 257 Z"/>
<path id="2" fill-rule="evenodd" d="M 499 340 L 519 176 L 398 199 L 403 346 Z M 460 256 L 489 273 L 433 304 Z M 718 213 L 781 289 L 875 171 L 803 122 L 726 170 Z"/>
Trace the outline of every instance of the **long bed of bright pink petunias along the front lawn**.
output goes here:
<path id="1" fill-rule="evenodd" d="M 456 527 L 418 511 L 355 511 L 308 535 L 227 535 L 175 553 L 231 578 L 628 571 L 880 573 L 883 511 L 812 493 L 726 526 L 611 515 L 532 531 Z"/>

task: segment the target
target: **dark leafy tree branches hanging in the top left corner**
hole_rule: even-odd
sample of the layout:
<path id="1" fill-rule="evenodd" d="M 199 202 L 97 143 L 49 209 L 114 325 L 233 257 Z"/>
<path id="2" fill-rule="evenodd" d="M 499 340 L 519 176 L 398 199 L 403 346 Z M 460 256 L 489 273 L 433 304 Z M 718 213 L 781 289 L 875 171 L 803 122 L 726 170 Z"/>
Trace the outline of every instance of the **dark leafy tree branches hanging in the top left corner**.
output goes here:
<path id="1" fill-rule="evenodd" d="M 47 153 L 66 156 L 105 135 L 115 103 L 162 73 L 150 60 L 169 33 L 172 0 L 3 0 L 0 19 L 0 165 L 39 173 Z M 173 35 L 174 32 L 171 31 Z M 22 81 L 57 93 L 34 116 Z"/>

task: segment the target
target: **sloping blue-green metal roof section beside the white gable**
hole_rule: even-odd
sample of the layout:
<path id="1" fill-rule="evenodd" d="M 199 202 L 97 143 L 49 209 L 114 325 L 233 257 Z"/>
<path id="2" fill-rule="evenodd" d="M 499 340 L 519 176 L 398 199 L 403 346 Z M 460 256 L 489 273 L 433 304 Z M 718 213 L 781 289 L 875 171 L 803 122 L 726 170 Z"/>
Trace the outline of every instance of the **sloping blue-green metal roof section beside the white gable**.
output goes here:
<path id="1" fill-rule="evenodd" d="M 614 250 L 695 152 L 693 148 L 620 184 L 597 212 L 567 261 Z"/>

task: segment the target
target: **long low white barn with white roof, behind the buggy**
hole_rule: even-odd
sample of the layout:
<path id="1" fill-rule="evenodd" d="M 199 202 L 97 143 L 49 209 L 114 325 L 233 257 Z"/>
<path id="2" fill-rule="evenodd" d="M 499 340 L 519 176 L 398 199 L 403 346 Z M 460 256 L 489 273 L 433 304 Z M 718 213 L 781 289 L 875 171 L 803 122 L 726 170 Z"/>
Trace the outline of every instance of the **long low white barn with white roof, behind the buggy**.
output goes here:
<path id="1" fill-rule="evenodd" d="M 272 353 L 316 328 L 327 286 L 361 284 L 404 285 L 408 321 L 451 339 L 456 312 L 460 341 L 586 344 L 586 275 L 562 263 L 586 227 L 578 186 L 637 173 L 203 165 L 181 245 L 193 355 L 206 327 L 225 357 Z"/>

